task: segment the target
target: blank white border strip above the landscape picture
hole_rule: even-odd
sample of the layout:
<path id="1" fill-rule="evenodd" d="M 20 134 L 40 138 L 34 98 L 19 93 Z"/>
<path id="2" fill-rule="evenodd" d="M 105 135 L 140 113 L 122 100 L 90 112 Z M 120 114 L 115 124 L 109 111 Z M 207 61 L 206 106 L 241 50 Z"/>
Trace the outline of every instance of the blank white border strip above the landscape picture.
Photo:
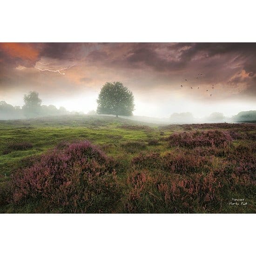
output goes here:
<path id="1" fill-rule="evenodd" d="M 252 0 L 8 0 L 0 41 L 255 42 Z"/>

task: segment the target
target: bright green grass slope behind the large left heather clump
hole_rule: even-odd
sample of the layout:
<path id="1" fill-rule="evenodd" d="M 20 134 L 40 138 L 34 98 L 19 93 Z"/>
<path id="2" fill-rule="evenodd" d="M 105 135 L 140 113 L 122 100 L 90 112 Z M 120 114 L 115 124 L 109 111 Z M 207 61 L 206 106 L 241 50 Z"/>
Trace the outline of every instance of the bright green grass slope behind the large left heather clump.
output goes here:
<path id="1" fill-rule="evenodd" d="M 34 119 L 22 121 L 0 121 L 0 175 L 9 176 L 19 167 L 22 158 L 41 154 L 61 141 L 89 140 L 104 148 L 108 155 L 121 156 L 127 152 L 121 147 L 126 141 L 147 141 L 160 138 L 157 128 L 130 130 L 122 125 L 137 125 L 138 122 L 98 116 L 67 116 L 63 118 Z M 13 141 L 28 141 L 33 144 L 29 150 L 1 154 L 7 144 Z M 105 146 L 107 145 L 107 147 Z M 148 147 L 150 148 L 150 147 Z M 158 146 L 161 149 L 163 147 Z M 1 177 L 0 181 L 3 181 Z"/>

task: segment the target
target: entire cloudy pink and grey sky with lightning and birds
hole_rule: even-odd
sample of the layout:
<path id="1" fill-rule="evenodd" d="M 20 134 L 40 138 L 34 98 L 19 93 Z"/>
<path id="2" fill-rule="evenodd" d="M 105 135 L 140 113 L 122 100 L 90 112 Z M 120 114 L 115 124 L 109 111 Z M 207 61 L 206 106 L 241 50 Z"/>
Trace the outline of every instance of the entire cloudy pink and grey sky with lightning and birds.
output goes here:
<path id="1" fill-rule="evenodd" d="M 256 43 L 0 43 L 0 101 L 13 106 L 37 91 L 87 113 L 112 81 L 133 92 L 134 115 L 256 110 Z"/>

